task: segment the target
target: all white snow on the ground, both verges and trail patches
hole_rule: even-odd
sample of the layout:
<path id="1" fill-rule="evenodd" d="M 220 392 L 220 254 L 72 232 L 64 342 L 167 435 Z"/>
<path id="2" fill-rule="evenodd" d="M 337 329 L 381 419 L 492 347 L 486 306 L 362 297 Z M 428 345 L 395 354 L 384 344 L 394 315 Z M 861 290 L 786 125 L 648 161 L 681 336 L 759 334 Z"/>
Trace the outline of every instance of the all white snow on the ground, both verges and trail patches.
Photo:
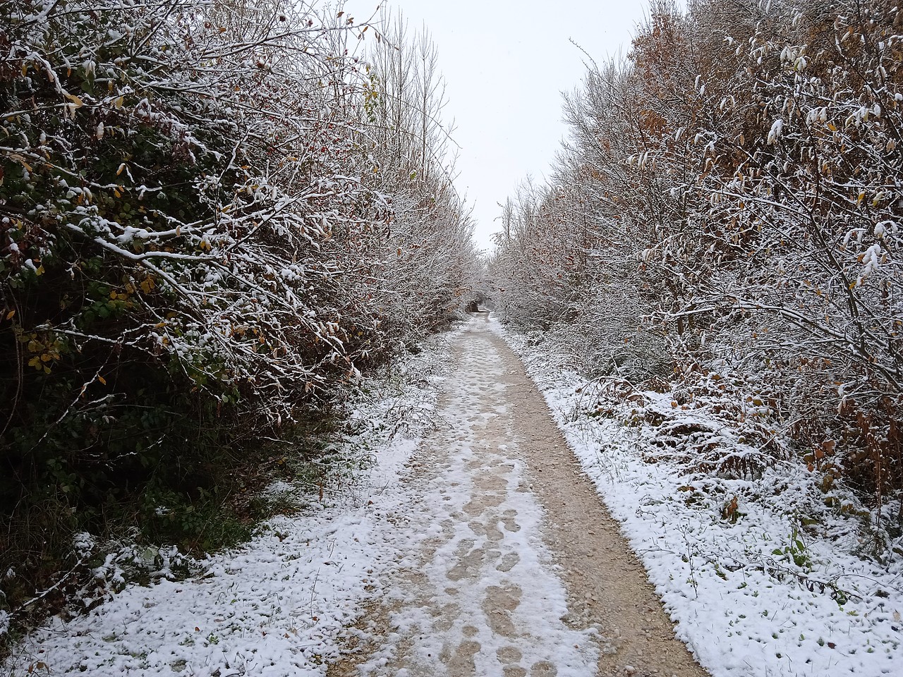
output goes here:
<path id="1" fill-rule="evenodd" d="M 628 410 L 591 417 L 586 382 L 554 366 L 554 359 L 522 338 L 506 338 L 524 357 L 583 467 L 643 559 L 678 636 L 713 677 L 899 673 L 903 566 L 858 557 L 860 530 L 851 527 L 850 517 L 833 515 L 824 505 L 819 509 L 805 490 L 805 468 L 765 468 L 760 478 L 746 480 L 688 475 L 661 454 L 650 457 L 648 431 L 636 422 L 626 424 Z M 4 672 L 325 674 L 369 599 L 400 595 L 411 601 L 405 599 L 409 590 L 383 586 L 412 566 L 411 552 L 435 535 L 430 531 L 435 524 L 444 521 L 452 537 L 423 568 L 434 589 L 447 579 L 443 562 L 480 547 L 468 524 L 448 525 L 446 518 L 466 506 L 458 504 L 479 477 L 470 471 L 479 473 L 480 464 L 492 461 L 486 455 L 491 450 L 474 455 L 478 424 L 457 437 L 446 435 L 452 447 L 442 482 L 421 487 L 420 495 L 401 485 L 405 464 L 431 425 L 441 424 L 436 402 L 442 377 L 429 367 L 440 358 L 447 365 L 447 351 L 424 352 L 408 365 L 402 385 L 389 392 L 374 384 L 375 392 L 359 404 L 354 418 L 363 431 L 346 451 L 354 456 L 357 447 L 358 456 L 372 453 L 376 463 L 354 487 L 328 494 L 315 509 L 268 521 L 247 546 L 209 558 L 199 577 L 130 586 L 86 616 L 51 619 L 25 639 Z M 466 384 L 451 392 L 442 416 L 463 417 L 470 406 Z M 644 395 L 648 407 L 669 414 L 670 403 Z M 713 430 L 715 423 L 708 422 Z M 508 489 L 517 486 L 520 472 L 517 464 L 507 470 Z M 447 482 L 457 482 L 461 492 L 449 493 Z M 283 495 L 299 491 L 269 488 Z M 506 531 L 506 537 L 517 540 L 532 533 L 538 513 L 528 496 L 513 500 L 520 501 L 512 509 L 521 530 Z M 400 524 L 398 515 L 414 502 L 425 506 L 424 514 Z M 813 520 L 833 538 L 807 529 Z M 545 580 L 542 552 L 536 557 L 531 562 L 522 556 L 527 569 L 518 580 Z M 498 580 L 488 575 L 484 586 L 505 593 L 501 574 Z M 552 576 L 543 584 L 552 606 L 561 602 L 555 582 Z M 471 592 L 461 587 L 456 594 Z M 542 612 L 525 600 L 517 615 Z M 433 619 L 414 614 L 395 621 L 403 632 L 416 633 Z M 453 623 L 452 631 L 457 632 Z M 464 645 L 463 626 L 461 632 Z M 549 636 L 556 632 L 551 628 Z M 489 635 L 479 639 L 498 651 Z M 578 659 L 575 655 L 575 666 Z"/>

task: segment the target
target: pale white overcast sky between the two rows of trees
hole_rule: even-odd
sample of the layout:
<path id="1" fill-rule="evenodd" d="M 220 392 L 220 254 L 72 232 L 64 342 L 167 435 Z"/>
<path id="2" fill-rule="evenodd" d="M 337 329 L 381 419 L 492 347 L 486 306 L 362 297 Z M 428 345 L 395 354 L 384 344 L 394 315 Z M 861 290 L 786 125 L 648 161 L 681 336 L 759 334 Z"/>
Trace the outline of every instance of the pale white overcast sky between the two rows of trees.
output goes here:
<path id="1" fill-rule="evenodd" d="M 365 21 L 377 0 L 347 0 Z M 479 246 L 500 228 L 498 202 L 527 174 L 542 181 L 566 128 L 562 91 L 578 85 L 586 56 L 629 51 L 646 0 L 391 0 L 409 29 L 425 23 L 447 81 L 446 119 L 461 146 L 458 190 L 466 192 Z"/>

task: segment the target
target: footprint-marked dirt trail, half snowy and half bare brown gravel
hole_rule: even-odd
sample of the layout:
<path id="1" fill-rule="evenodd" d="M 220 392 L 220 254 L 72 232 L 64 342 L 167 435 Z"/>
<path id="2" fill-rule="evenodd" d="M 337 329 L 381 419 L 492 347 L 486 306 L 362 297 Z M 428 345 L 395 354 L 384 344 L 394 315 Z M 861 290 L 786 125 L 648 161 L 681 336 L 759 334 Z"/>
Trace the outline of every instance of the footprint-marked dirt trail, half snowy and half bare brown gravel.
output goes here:
<path id="1" fill-rule="evenodd" d="M 517 356 L 479 316 L 454 350 L 393 518 L 423 535 L 330 676 L 703 677 Z"/>

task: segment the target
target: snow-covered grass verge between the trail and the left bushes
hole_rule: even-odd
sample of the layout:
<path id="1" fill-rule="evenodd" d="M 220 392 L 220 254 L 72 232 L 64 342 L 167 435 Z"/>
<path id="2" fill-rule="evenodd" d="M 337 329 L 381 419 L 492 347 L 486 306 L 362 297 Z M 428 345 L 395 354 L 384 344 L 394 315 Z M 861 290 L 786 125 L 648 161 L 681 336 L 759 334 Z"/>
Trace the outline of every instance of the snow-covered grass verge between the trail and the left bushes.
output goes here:
<path id="1" fill-rule="evenodd" d="M 396 365 L 391 382 L 365 384 L 336 447 L 348 468 L 366 469 L 342 471 L 322 501 L 309 487 L 272 484 L 269 499 L 308 506 L 200 562 L 199 576 L 172 580 L 163 572 L 154 585 L 128 585 L 87 615 L 51 618 L 0 673 L 325 674 L 363 605 L 381 596 L 379 581 L 404 557 L 404 538 L 391 537 L 386 515 L 407 500 L 394 487 L 433 424 L 446 346 Z"/>

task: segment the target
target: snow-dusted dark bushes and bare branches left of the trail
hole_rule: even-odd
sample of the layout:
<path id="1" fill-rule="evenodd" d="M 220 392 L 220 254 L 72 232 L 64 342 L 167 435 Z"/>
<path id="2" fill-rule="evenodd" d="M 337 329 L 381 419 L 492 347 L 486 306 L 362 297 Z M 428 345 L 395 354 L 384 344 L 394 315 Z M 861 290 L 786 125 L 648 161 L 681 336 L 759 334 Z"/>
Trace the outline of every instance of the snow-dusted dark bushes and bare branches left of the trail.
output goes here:
<path id="1" fill-rule="evenodd" d="M 134 496 L 176 520 L 455 316 L 442 97 L 365 54 L 397 38 L 278 0 L 0 0 L 0 568 L 49 585 Z"/>

